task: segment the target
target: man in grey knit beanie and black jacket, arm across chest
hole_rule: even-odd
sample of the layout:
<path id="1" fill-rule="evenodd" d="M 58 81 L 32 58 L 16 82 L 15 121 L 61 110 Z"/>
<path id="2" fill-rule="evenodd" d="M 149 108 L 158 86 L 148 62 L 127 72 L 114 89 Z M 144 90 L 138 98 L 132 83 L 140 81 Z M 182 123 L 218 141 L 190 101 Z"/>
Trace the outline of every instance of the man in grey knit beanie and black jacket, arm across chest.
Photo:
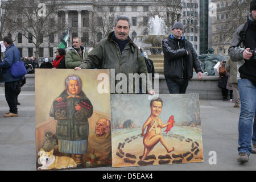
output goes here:
<path id="1" fill-rule="evenodd" d="M 193 77 L 193 68 L 199 79 L 203 71 L 191 42 L 184 39 L 181 22 L 172 27 L 172 35 L 162 42 L 164 53 L 164 77 L 170 93 L 185 93 L 188 80 Z"/>

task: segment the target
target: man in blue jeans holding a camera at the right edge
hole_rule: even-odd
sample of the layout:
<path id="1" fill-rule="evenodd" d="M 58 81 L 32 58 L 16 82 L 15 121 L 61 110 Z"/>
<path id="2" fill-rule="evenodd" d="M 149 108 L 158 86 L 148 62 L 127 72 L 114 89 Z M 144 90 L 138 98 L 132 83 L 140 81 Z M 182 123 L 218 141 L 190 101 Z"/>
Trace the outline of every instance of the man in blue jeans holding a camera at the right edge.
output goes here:
<path id="1" fill-rule="evenodd" d="M 232 61 L 237 61 L 240 74 L 238 89 L 241 113 L 237 161 L 245 163 L 249 161 L 251 153 L 256 154 L 256 0 L 250 2 L 247 22 L 241 24 L 234 33 L 229 56 Z"/>

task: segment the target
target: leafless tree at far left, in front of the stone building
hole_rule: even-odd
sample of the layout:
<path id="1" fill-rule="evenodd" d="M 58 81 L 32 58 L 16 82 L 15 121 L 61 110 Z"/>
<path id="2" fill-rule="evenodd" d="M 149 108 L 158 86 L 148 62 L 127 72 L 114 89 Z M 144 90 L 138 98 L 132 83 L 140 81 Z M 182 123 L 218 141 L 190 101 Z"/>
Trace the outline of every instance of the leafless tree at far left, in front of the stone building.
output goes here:
<path id="1" fill-rule="evenodd" d="M 9 22 L 15 24 L 17 32 L 31 40 L 35 45 L 35 57 L 39 58 L 39 46 L 43 39 L 63 29 L 58 23 L 57 11 L 63 10 L 61 0 L 15 0 L 11 11 L 16 18 L 9 18 Z"/>

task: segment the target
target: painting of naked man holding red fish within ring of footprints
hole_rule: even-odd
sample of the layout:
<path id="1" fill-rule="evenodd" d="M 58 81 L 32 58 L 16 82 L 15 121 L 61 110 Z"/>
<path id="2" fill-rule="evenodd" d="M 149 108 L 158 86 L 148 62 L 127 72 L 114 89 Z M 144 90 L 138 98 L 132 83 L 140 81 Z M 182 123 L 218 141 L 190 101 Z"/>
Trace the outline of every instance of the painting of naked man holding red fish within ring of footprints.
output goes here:
<path id="1" fill-rule="evenodd" d="M 111 95 L 112 166 L 203 162 L 198 94 Z"/>

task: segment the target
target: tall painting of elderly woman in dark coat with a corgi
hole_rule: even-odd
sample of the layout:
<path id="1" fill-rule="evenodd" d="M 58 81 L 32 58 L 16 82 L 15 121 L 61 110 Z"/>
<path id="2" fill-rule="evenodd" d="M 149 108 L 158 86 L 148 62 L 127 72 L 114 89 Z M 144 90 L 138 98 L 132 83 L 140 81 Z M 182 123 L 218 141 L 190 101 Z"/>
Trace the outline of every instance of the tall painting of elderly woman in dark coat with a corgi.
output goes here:
<path id="1" fill-rule="evenodd" d="M 36 169 L 112 166 L 110 93 L 97 92 L 106 69 L 36 69 Z"/>

